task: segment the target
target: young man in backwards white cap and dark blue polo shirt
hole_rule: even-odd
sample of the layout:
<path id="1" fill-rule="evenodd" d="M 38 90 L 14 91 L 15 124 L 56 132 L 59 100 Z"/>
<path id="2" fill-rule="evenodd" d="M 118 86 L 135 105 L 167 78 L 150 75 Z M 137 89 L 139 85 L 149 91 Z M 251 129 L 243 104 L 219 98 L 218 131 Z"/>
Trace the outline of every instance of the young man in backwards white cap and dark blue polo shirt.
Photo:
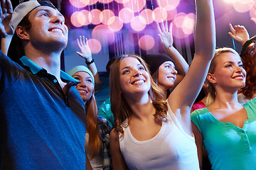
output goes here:
<path id="1" fill-rule="evenodd" d="M 1 0 L 0 29 L 10 5 Z M 85 169 L 79 81 L 60 71 L 63 15 L 48 1 L 30 0 L 14 9 L 10 28 L 10 56 L 0 52 L 0 169 Z"/>

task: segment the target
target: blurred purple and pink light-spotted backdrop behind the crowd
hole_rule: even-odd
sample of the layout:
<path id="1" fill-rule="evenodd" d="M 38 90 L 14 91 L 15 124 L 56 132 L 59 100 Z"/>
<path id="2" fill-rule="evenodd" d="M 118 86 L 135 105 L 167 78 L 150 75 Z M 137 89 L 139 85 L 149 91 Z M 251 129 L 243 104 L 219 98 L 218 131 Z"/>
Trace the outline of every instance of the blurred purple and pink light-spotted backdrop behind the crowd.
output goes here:
<path id="1" fill-rule="evenodd" d="M 11 0 L 16 6 L 22 0 Z M 68 71 L 85 60 L 75 54 L 76 39 L 85 35 L 92 57 L 103 82 L 103 94 L 108 95 L 108 75 L 105 66 L 110 58 L 127 54 L 146 55 L 164 50 L 157 35 L 156 22 L 173 23 L 174 46 L 188 64 L 194 53 L 193 31 L 195 2 L 193 0 L 52 0 L 65 16 L 69 28 L 68 46 L 62 57 L 62 69 Z M 250 18 L 256 17 L 254 0 L 213 0 L 215 9 L 217 47 L 242 47 L 228 35 L 229 23 L 247 28 L 250 37 L 256 34 L 256 25 Z M 106 90 L 104 90 L 104 87 Z M 99 102 L 100 103 L 100 102 Z"/>

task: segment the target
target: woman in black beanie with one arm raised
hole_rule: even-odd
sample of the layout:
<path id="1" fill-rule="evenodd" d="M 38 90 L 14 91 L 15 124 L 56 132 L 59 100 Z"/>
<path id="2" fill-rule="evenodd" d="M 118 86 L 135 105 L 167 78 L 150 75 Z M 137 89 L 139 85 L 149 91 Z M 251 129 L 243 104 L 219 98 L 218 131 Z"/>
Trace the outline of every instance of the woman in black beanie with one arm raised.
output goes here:
<path id="1" fill-rule="evenodd" d="M 164 54 L 149 54 L 144 56 L 144 60 L 149 66 L 149 71 L 154 81 L 165 92 L 164 99 L 167 99 L 170 90 L 174 89 L 185 77 L 186 72 L 188 72 L 188 63 L 173 46 L 172 23 L 169 30 L 167 21 L 161 23 L 161 28 L 159 23 L 156 23 L 156 26 L 161 44 L 169 56 Z"/>

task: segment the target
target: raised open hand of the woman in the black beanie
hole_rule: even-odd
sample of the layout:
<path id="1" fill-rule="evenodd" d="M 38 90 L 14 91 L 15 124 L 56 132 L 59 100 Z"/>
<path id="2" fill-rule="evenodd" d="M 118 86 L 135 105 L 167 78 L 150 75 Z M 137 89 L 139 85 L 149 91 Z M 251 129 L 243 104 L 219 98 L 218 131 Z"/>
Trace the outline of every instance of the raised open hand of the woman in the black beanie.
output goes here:
<path id="1" fill-rule="evenodd" d="M 159 32 L 159 38 L 161 40 L 161 44 L 163 45 L 163 47 L 165 49 L 169 48 L 169 47 L 172 47 L 173 46 L 173 43 L 174 43 L 174 40 L 173 40 L 173 36 L 172 36 L 172 23 L 170 24 L 170 28 L 168 30 L 168 23 L 167 21 L 163 21 L 161 23 L 161 28 L 159 26 L 159 23 L 156 23 L 156 27 L 157 27 L 157 30 Z"/>

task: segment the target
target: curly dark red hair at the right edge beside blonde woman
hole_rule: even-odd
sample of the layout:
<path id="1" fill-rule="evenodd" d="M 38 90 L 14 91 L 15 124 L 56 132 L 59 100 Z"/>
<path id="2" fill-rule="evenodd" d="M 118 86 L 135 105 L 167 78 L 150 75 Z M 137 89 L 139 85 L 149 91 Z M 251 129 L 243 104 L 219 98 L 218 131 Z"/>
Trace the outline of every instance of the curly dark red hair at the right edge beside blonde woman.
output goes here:
<path id="1" fill-rule="evenodd" d="M 252 99 L 256 94 L 256 54 L 255 42 L 247 46 L 245 52 L 241 54 L 242 64 L 247 72 L 245 87 L 239 90 L 239 93 L 245 95 L 246 98 Z"/>

